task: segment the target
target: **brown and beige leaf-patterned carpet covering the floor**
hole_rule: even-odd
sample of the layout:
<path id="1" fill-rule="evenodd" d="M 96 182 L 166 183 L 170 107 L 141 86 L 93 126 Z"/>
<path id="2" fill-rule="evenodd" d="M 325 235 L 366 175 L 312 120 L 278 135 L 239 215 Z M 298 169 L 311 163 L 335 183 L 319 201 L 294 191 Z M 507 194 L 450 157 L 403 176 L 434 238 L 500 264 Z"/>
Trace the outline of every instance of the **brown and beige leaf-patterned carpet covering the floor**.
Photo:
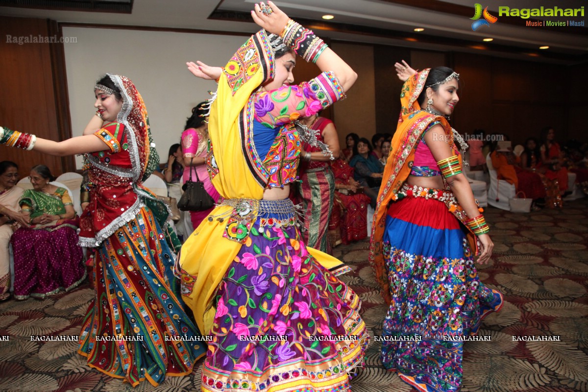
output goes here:
<path id="1" fill-rule="evenodd" d="M 562 210 L 512 214 L 489 207 L 486 219 L 495 242 L 493 260 L 480 279 L 505 294 L 505 306 L 485 320 L 480 334 L 491 342 L 467 342 L 464 392 L 588 391 L 588 200 Z M 370 333 L 380 334 L 386 306 L 366 260 L 368 242 L 339 246 L 335 256 L 353 272 L 343 280 L 363 300 Z M 77 344 L 31 341 L 31 335 L 75 335 L 92 298 L 83 286 L 45 300 L 0 304 L 1 391 L 124 391 L 121 380 L 89 368 L 75 354 Z M 513 341 L 512 336 L 556 336 L 561 341 Z M 366 368 L 352 381 L 355 392 L 410 392 L 413 389 L 380 364 L 372 342 Z M 169 377 L 157 388 L 134 391 L 199 391 L 200 366 L 190 377 Z"/>

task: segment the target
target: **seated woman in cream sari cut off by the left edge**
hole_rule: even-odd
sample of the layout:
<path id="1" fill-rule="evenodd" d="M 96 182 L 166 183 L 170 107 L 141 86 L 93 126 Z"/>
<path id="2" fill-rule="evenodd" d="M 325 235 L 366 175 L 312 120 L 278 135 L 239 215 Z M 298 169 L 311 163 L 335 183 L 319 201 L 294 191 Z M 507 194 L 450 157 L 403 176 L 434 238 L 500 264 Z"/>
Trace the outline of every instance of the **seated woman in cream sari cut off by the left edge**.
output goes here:
<path id="1" fill-rule="evenodd" d="M 10 256 L 8 245 L 12 233 L 18 225 L 26 221 L 21 213 L 18 201 L 22 188 L 18 182 L 18 166 L 9 160 L 0 162 L 0 301 L 10 297 Z"/>

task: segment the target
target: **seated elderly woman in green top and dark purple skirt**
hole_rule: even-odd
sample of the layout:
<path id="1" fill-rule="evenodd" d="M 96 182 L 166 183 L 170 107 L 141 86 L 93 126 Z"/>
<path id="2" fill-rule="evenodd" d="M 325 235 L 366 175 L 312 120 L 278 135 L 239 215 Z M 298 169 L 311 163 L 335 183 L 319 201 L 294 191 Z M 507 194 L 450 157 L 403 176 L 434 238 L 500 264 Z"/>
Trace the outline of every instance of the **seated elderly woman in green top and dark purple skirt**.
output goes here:
<path id="1" fill-rule="evenodd" d="M 66 189 L 50 184 L 54 177 L 45 165 L 31 169 L 33 189 L 19 204 L 29 227 L 12 234 L 14 296 L 44 298 L 74 289 L 86 277 L 78 246 L 79 218 Z"/>

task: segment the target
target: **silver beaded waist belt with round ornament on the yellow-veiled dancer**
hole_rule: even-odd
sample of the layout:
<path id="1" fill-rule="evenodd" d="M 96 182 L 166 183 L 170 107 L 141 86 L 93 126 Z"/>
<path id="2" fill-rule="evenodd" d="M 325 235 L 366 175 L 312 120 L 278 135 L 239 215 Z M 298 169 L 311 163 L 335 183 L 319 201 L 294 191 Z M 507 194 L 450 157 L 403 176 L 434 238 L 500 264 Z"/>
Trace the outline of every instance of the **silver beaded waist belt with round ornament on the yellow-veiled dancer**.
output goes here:
<path id="1" fill-rule="evenodd" d="M 245 242 L 253 225 L 258 222 L 259 227 L 286 227 L 299 225 L 302 215 L 299 205 L 292 200 L 256 200 L 256 199 L 225 199 L 218 206 L 233 207 L 225 213 L 209 215 L 208 220 L 224 222 L 228 219 L 223 237 L 236 242 Z"/>

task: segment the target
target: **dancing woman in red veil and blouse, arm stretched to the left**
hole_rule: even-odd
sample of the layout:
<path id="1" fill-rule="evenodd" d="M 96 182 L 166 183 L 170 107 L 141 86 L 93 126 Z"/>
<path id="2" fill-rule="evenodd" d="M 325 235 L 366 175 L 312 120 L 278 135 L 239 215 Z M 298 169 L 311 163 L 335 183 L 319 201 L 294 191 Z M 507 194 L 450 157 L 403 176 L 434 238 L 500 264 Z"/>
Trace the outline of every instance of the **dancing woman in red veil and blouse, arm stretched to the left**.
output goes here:
<path id="1" fill-rule="evenodd" d="M 169 211 L 142 182 L 159 164 L 145 103 L 125 76 L 95 86 L 98 109 L 83 136 L 54 142 L 0 128 L 0 144 L 55 156 L 85 154 L 89 205 L 79 244 L 92 248 L 95 299 L 86 313 L 78 353 L 88 365 L 132 386 L 192 373 L 204 353 L 182 309 L 173 274 L 179 242 Z M 179 340 L 179 339 L 181 340 Z M 178 340 L 176 340 L 178 339 Z"/>

